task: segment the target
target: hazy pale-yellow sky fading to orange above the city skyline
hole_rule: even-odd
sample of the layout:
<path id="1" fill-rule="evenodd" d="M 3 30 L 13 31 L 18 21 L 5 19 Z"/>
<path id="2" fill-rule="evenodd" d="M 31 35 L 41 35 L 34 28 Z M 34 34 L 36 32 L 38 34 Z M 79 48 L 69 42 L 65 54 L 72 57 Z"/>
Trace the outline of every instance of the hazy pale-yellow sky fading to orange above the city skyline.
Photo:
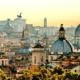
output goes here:
<path id="1" fill-rule="evenodd" d="M 77 26 L 80 23 L 80 0 L 0 0 L 0 20 L 15 19 L 22 12 L 28 24 Z"/>

